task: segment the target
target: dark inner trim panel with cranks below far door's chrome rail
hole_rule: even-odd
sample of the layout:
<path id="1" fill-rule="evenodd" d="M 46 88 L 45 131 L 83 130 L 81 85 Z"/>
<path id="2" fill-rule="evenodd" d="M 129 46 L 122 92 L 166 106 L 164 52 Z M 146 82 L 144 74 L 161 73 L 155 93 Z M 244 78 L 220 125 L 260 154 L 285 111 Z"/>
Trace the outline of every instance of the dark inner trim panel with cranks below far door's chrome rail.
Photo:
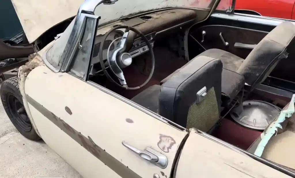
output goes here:
<path id="1" fill-rule="evenodd" d="M 205 33 L 205 35 L 203 35 L 202 32 L 203 34 Z M 250 45 L 258 44 L 267 33 L 268 32 L 226 25 L 206 25 L 191 32 L 191 35 L 198 40 L 206 50 L 218 48 L 245 59 L 252 50 Z M 204 41 L 202 41 L 203 36 Z M 226 42 L 228 43 L 227 46 Z"/>

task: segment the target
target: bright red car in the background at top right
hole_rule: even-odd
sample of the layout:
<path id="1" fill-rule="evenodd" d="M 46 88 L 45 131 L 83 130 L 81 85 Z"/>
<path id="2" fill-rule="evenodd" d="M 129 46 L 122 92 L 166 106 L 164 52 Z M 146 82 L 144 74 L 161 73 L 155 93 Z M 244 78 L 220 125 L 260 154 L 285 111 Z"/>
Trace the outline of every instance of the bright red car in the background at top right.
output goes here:
<path id="1" fill-rule="evenodd" d="M 235 12 L 295 19 L 294 3 L 295 0 L 236 0 Z"/>

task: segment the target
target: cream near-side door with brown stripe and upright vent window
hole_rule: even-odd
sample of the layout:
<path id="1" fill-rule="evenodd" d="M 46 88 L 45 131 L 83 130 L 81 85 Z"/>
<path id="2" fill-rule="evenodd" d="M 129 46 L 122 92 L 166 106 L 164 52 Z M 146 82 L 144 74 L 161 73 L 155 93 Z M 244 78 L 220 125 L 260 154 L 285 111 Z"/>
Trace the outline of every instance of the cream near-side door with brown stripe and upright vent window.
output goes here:
<path id="1" fill-rule="evenodd" d="M 41 65 L 27 76 L 25 93 L 38 132 L 85 178 L 170 177 L 187 130 L 86 80 L 90 55 L 84 52 L 91 50 L 98 17 L 84 15 L 83 48 L 74 49 L 71 70 Z"/>

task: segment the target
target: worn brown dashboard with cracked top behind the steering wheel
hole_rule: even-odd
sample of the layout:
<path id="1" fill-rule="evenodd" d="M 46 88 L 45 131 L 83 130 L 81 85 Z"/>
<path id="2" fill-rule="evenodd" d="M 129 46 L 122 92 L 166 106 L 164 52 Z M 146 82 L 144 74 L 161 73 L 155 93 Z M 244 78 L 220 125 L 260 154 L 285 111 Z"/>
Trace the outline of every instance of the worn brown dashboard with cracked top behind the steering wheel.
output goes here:
<path id="1" fill-rule="evenodd" d="M 111 30 L 114 27 L 120 25 L 127 25 L 135 27 L 137 30 L 142 32 L 145 37 L 149 40 L 150 44 L 154 45 L 155 38 L 157 39 L 161 36 L 165 35 L 173 35 L 175 32 L 185 29 L 186 27 L 191 26 L 195 20 L 197 19 L 196 11 L 191 9 L 169 9 L 164 11 L 152 12 L 148 14 L 144 14 L 142 16 L 134 16 L 125 19 L 118 20 L 113 22 L 112 24 L 107 24 L 101 26 L 97 30 L 97 36 L 94 41 L 94 50 L 92 55 L 92 68 L 93 65 L 99 63 L 99 48 L 104 38 L 106 32 Z M 106 60 L 106 53 L 109 45 L 113 40 L 118 37 L 122 37 L 125 29 L 118 29 L 114 32 L 110 33 L 106 38 L 106 41 L 103 44 L 102 55 L 104 60 Z M 119 42 L 119 41 L 118 41 Z M 110 52 L 115 49 L 116 42 L 112 44 L 110 47 Z M 132 48 L 128 53 L 132 56 L 132 58 L 141 55 L 142 53 L 148 52 L 149 48 L 146 43 L 138 37 L 134 40 Z"/>

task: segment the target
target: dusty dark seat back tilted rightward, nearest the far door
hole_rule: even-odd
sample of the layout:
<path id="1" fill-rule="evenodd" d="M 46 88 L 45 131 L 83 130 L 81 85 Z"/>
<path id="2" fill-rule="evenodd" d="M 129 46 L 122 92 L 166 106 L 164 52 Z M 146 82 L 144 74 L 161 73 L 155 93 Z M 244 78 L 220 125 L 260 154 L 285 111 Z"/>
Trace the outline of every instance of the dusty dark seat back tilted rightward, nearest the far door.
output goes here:
<path id="1" fill-rule="evenodd" d="M 295 36 L 293 22 L 284 21 L 269 32 L 243 61 L 237 73 L 254 89 L 262 83 L 282 58 L 288 57 L 288 48 Z"/>

